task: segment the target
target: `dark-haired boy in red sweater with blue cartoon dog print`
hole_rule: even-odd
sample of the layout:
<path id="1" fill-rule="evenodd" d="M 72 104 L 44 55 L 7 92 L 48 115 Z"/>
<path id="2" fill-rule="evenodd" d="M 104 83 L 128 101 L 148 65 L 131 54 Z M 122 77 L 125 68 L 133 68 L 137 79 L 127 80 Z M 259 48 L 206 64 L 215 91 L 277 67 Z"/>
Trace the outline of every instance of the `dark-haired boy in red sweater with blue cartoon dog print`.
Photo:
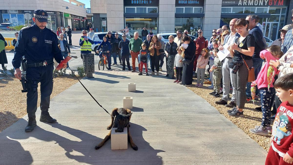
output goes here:
<path id="1" fill-rule="evenodd" d="M 271 147 L 265 165 L 293 162 L 293 73 L 277 79 L 276 96 L 282 101 L 272 126 Z"/>

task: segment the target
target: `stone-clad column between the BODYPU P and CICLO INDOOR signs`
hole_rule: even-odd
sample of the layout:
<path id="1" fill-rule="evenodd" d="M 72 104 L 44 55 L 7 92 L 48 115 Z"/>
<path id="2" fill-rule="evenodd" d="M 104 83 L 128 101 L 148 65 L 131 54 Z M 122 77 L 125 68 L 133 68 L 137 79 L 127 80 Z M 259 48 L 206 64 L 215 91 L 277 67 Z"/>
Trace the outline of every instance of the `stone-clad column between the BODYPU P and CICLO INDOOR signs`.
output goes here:
<path id="1" fill-rule="evenodd" d="M 174 33 L 175 0 L 159 1 L 158 33 Z"/>

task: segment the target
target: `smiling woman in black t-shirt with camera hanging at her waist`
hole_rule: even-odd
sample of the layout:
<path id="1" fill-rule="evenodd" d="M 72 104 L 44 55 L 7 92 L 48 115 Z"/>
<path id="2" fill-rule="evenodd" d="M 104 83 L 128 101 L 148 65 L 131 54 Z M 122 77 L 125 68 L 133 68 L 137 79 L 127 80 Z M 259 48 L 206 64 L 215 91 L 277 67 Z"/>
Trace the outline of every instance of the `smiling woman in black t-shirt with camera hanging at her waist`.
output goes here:
<path id="1" fill-rule="evenodd" d="M 255 40 L 253 35 L 248 33 L 249 22 L 244 18 L 240 18 L 235 23 L 235 28 L 240 37 L 235 40 L 235 43 L 228 47 L 233 61 L 229 68 L 232 68 L 232 79 L 235 82 L 236 88 L 236 107 L 228 110 L 228 114 L 234 117 L 243 117 L 243 108 L 246 102 L 246 83 L 248 79 L 249 69 L 253 67 L 252 56 L 254 53 Z M 245 64 L 246 62 L 246 64 Z"/>

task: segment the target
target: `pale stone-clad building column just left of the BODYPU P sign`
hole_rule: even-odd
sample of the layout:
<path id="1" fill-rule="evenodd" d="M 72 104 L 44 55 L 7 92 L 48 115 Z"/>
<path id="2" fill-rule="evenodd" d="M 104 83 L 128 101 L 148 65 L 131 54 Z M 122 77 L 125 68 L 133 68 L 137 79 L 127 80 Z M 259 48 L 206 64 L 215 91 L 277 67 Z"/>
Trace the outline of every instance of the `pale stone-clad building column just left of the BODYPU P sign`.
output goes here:
<path id="1" fill-rule="evenodd" d="M 107 1 L 108 31 L 118 31 L 124 28 L 123 0 Z"/>

